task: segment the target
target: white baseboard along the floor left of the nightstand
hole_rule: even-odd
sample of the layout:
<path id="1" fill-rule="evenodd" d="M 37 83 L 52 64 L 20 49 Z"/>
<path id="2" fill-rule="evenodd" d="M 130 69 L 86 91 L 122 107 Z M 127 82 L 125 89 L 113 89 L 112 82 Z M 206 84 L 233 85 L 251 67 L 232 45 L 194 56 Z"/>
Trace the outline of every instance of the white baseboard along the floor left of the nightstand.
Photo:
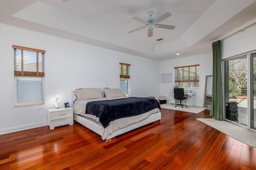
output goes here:
<path id="1" fill-rule="evenodd" d="M 48 125 L 47 121 L 39 122 L 39 123 L 32 123 L 32 124 L 22 125 L 22 126 L 16 126 L 16 127 L 9 127 L 6 129 L 0 129 L 0 135 L 6 134 L 6 133 L 23 131 L 26 129 L 33 129 L 36 127 L 42 127 L 42 126 L 46 126 L 46 125 Z"/>

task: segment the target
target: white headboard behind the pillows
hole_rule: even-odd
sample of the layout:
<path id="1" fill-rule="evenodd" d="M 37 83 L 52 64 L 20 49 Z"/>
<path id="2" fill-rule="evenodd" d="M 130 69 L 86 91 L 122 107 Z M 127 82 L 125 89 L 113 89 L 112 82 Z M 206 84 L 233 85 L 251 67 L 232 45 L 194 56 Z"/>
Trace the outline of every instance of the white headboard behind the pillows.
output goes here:
<path id="1" fill-rule="evenodd" d="M 100 88 L 102 96 L 104 96 L 103 89 L 104 88 L 120 88 L 120 84 L 70 84 L 70 101 L 74 102 L 76 100 L 76 95 L 74 94 L 74 90 L 79 88 Z"/>

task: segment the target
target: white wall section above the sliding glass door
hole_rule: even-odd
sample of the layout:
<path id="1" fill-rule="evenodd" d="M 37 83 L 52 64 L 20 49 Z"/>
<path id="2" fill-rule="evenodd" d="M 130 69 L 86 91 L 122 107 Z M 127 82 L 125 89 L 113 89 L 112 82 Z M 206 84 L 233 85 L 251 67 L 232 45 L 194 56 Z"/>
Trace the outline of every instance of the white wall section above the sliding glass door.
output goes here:
<path id="1" fill-rule="evenodd" d="M 256 18 L 242 25 L 238 29 L 235 29 L 234 32 L 243 29 L 244 27 L 247 27 L 254 22 L 256 22 Z M 228 33 L 224 37 L 231 35 L 232 33 Z M 221 49 L 222 59 L 256 50 L 256 24 L 246 28 L 244 31 L 240 31 L 239 33 L 236 33 L 231 37 L 222 40 Z"/>

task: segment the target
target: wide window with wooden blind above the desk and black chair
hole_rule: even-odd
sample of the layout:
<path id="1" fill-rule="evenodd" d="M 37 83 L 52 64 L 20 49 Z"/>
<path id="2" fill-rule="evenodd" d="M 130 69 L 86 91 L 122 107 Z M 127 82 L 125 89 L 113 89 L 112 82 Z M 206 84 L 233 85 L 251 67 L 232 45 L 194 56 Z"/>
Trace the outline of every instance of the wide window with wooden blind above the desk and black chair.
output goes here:
<path id="1" fill-rule="evenodd" d="M 199 87 L 199 64 L 192 66 L 174 67 L 175 86 L 178 87 Z"/>

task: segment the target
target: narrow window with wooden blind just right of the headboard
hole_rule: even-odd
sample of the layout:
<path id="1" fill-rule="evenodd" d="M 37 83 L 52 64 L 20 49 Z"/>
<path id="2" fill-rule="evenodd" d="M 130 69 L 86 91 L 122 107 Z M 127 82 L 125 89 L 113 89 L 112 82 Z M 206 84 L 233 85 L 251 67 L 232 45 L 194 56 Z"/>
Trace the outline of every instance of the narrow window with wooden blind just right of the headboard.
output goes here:
<path id="1" fill-rule="evenodd" d="M 119 63 L 120 89 L 126 95 L 130 95 L 130 66 L 131 64 Z"/>

